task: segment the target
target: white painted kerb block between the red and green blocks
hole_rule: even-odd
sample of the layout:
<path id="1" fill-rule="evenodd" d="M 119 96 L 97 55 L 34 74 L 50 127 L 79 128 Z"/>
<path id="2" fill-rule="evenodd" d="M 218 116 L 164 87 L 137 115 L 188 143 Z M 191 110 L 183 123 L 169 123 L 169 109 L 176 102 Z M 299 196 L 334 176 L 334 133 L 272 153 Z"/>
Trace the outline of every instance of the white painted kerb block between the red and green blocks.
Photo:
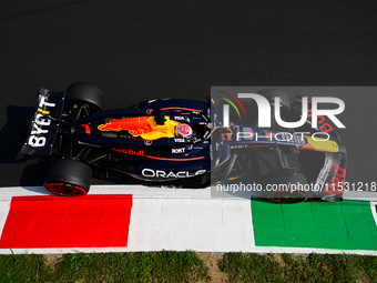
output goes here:
<path id="1" fill-rule="evenodd" d="M 133 199 L 129 251 L 253 251 L 251 202 Z"/>

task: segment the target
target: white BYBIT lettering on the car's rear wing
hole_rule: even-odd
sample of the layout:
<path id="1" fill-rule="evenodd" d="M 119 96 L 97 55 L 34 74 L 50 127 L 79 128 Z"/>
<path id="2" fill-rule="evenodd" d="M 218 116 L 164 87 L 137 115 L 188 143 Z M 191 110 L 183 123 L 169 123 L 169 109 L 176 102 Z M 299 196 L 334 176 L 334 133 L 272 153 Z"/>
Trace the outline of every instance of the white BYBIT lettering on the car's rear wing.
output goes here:
<path id="1" fill-rule="evenodd" d="M 40 148 L 40 146 L 45 145 L 47 139 L 45 139 L 45 137 L 40 137 L 40 134 L 45 134 L 45 133 L 49 132 L 49 130 L 42 129 L 43 125 L 50 125 L 50 123 L 51 123 L 51 120 L 49 120 L 44 117 L 44 114 L 50 113 L 50 111 L 43 110 L 43 108 L 48 108 L 48 107 L 53 108 L 53 107 L 55 107 L 55 103 L 47 102 L 45 98 L 41 97 L 41 100 L 39 102 L 39 109 L 38 109 L 38 112 L 40 112 L 40 113 L 35 114 L 34 121 L 32 123 L 31 135 L 28 140 L 28 144 L 30 146 Z"/>

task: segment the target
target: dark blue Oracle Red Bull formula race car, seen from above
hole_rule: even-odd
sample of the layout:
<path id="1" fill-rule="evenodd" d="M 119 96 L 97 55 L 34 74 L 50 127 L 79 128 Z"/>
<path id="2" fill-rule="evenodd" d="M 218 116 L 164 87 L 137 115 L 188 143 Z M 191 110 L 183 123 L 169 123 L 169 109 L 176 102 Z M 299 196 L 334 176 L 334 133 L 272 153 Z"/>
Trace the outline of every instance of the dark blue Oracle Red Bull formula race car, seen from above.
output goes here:
<path id="1" fill-rule="evenodd" d="M 300 117 L 300 97 L 291 105 L 288 97 L 279 91 L 258 93 L 272 103 L 274 97 L 279 97 L 282 113 L 287 118 Z M 150 100 L 102 111 L 104 95 L 95 85 L 77 82 L 65 92 L 41 89 L 22 153 L 52 158 L 44 188 L 58 195 L 86 194 L 92 176 L 120 183 L 129 182 L 131 176 L 152 184 L 170 182 L 188 188 L 234 180 L 263 185 L 312 182 L 315 190 L 293 193 L 286 188 L 268 191 L 265 196 L 283 203 L 308 198 L 342 200 L 346 150 L 334 131 L 325 127 L 325 118 L 318 122 L 326 128 L 327 139 L 312 137 L 309 121 L 300 130 L 305 134 L 274 123 L 264 129 L 257 127 L 256 104 L 244 100 L 243 105 L 252 114 L 243 120 L 233 119 L 231 112 L 231 123 L 224 127 L 223 102 L 216 98 L 207 102 Z M 289 139 L 282 138 L 286 135 Z M 313 153 L 319 155 L 319 163 L 305 161 L 314 161 Z M 304 165 L 291 165 L 289 155 Z M 313 168 L 305 168 L 312 163 L 318 163 L 315 174 Z"/>

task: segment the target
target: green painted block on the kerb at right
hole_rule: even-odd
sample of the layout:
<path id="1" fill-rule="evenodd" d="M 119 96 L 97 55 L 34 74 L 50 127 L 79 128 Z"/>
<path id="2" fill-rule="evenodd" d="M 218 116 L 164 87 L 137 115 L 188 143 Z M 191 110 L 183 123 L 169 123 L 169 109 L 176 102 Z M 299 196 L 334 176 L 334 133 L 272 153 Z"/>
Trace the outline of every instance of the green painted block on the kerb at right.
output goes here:
<path id="1" fill-rule="evenodd" d="M 369 202 L 277 204 L 252 200 L 256 246 L 377 250 Z"/>

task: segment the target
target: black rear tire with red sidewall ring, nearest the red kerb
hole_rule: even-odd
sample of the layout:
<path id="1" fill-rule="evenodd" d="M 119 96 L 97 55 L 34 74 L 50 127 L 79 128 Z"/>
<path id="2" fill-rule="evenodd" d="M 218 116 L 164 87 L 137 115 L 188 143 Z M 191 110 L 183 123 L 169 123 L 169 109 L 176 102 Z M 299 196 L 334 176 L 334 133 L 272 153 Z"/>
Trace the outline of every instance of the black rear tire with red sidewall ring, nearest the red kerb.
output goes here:
<path id="1" fill-rule="evenodd" d="M 89 192 L 92 169 L 77 160 L 59 159 L 51 162 L 43 185 L 60 196 L 80 196 Z"/>

